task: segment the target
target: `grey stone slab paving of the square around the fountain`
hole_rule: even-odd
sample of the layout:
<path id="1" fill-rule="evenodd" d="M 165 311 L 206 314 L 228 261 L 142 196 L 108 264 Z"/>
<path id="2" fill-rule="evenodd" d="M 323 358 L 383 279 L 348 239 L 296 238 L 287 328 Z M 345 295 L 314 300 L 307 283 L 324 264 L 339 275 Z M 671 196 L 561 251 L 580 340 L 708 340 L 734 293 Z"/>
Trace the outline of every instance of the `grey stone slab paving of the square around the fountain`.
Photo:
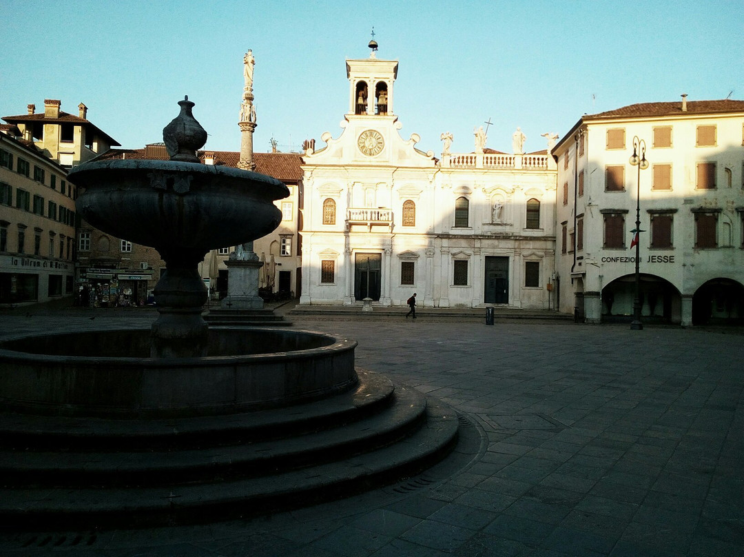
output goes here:
<path id="1" fill-rule="evenodd" d="M 0 331 L 152 320 L 137 312 L 6 311 Z M 431 470 L 227 523 L 0 532 L 0 555 L 744 556 L 744 331 L 403 315 L 291 318 L 461 413 Z"/>

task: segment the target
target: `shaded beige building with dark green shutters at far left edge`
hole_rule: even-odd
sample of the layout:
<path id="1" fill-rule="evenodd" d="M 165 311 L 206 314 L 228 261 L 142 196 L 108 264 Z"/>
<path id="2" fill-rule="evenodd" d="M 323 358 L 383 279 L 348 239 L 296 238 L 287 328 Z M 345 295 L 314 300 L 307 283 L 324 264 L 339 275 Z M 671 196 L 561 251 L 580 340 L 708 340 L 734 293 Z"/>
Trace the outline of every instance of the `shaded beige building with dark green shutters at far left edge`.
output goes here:
<path id="1" fill-rule="evenodd" d="M 14 125 L 0 126 L 0 305 L 74 293 L 75 188 Z"/>

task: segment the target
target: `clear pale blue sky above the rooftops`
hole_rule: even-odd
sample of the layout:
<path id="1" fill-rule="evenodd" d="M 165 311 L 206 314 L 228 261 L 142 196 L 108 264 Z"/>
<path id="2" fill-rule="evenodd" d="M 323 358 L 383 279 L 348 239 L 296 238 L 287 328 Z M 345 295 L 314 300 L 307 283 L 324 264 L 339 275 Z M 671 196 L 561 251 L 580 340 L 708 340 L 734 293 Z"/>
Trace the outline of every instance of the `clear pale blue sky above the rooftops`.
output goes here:
<path id="1" fill-rule="evenodd" d="M 583 113 L 650 101 L 744 99 L 744 1 L 2 0 L 0 115 L 60 99 L 124 147 L 161 141 L 189 95 L 205 146 L 240 150 L 243 53 L 256 58 L 254 150 L 341 133 L 344 60 L 399 60 L 401 136 L 422 150 L 545 148 Z"/>

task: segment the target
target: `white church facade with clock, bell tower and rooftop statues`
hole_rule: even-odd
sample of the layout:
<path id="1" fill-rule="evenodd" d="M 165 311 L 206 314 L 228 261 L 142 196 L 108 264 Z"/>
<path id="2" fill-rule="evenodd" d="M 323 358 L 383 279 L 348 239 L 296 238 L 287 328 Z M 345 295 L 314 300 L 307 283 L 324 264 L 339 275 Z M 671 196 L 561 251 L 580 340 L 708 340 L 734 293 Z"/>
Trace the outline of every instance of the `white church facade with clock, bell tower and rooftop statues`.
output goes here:
<path id="1" fill-rule="evenodd" d="M 556 165 L 485 147 L 439 159 L 400 136 L 396 60 L 346 60 L 341 134 L 304 156 L 301 305 L 554 308 Z"/>

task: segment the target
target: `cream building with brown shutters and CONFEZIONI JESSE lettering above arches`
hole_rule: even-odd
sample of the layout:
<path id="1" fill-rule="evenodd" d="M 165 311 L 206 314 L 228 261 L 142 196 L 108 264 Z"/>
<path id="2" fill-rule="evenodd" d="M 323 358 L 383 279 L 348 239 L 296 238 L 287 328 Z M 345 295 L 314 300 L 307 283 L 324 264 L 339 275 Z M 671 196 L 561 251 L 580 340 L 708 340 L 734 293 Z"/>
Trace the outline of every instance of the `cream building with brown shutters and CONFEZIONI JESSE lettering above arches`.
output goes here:
<path id="1" fill-rule="evenodd" d="M 580 118 L 554 148 L 559 309 L 629 321 L 638 206 L 642 320 L 741 322 L 743 145 L 744 101 L 683 95 Z M 634 148 L 648 168 L 630 164 Z"/>

